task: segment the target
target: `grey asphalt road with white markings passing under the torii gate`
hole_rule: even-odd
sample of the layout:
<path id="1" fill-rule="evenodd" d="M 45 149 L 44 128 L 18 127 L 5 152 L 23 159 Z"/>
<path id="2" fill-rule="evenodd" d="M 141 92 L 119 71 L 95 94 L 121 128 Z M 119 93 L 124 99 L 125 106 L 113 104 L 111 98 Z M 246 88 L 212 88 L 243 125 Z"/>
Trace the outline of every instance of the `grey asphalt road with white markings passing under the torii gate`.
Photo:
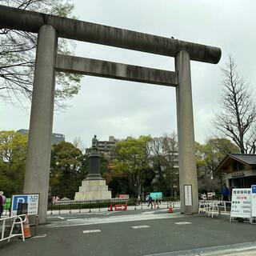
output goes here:
<path id="1" fill-rule="evenodd" d="M 229 218 L 167 214 L 166 210 L 49 217 L 50 223 L 38 229 L 40 237 L 26 242 L 13 238 L 9 244 L 0 244 L 1 256 L 166 256 L 201 255 L 202 251 L 240 247 L 256 249 L 255 226 L 230 223 Z"/>

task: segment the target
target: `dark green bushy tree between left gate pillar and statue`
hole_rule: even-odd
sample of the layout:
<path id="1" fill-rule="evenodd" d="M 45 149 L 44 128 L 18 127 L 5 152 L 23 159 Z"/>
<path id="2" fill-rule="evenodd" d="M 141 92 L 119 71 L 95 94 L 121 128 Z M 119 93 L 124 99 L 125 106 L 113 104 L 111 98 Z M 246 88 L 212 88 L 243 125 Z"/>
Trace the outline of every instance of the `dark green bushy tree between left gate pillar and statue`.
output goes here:
<path id="1" fill-rule="evenodd" d="M 54 144 L 50 163 L 50 191 L 52 195 L 74 198 L 82 180 L 86 177 L 88 154 L 70 142 Z"/>

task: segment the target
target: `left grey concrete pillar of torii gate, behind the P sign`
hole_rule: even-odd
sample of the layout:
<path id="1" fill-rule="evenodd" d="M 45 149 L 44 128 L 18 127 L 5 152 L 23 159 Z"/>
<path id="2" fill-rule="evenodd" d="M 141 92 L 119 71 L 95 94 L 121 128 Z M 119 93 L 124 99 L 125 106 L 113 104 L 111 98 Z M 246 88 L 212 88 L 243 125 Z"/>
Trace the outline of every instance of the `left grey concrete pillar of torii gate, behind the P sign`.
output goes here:
<path id="1" fill-rule="evenodd" d="M 57 41 L 57 31 L 53 26 L 43 25 L 40 27 L 34 69 L 24 193 L 40 193 L 39 216 L 41 223 L 46 223 L 48 202 Z"/>

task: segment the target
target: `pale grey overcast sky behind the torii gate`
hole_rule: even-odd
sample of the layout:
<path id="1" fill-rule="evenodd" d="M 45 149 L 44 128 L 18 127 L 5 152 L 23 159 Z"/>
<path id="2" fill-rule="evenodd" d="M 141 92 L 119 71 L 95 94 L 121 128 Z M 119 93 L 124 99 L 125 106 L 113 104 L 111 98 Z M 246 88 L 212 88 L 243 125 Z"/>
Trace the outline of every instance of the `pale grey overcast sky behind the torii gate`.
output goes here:
<path id="1" fill-rule="evenodd" d="M 238 72 L 256 86 L 256 22 L 254 0 L 74 0 L 80 20 L 136 30 L 222 49 L 217 65 L 191 62 L 194 131 L 198 142 L 215 134 L 210 124 L 222 91 L 221 68 L 233 54 Z M 174 71 L 174 58 L 78 42 L 75 54 Z M 90 146 L 100 140 L 177 131 L 174 87 L 84 76 L 78 95 L 64 113 L 54 114 L 54 132 L 66 141 L 80 138 Z M 28 129 L 30 110 L 0 102 L 0 130 Z"/>

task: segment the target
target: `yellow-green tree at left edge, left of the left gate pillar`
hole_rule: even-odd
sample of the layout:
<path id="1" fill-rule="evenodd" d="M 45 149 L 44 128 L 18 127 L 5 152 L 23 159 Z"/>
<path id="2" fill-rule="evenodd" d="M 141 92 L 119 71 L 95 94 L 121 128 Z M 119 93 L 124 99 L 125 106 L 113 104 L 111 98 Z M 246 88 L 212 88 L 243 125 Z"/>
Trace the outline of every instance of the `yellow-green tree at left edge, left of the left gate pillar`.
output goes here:
<path id="1" fill-rule="evenodd" d="M 27 136 L 0 131 L 0 189 L 7 197 L 22 193 L 26 166 Z"/>

